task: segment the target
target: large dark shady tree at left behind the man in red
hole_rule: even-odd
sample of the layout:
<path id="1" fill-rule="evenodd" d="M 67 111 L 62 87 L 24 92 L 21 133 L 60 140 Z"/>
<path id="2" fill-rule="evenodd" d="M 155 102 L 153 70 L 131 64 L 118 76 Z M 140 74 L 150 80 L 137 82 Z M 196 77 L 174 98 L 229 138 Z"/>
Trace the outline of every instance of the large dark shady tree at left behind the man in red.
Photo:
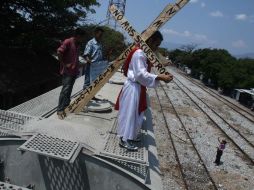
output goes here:
<path id="1" fill-rule="evenodd" d="M 61 81 L 52 53 L 86 23 L 96 0 L 0 1 L 0 108 L 9 109 Z"/>

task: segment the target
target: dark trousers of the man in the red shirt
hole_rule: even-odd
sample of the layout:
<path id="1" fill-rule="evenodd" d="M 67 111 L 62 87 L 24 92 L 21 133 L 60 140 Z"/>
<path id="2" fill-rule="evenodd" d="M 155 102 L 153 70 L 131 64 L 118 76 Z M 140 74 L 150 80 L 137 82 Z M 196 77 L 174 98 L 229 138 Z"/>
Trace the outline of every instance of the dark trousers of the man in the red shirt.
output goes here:
<path id="1" fill-rule="evenodd" d="M 57 111 L 63 111 L 71 102 L 71 92 L 76 76 L 63 75 L 62 90 L 60 92 Z"/>

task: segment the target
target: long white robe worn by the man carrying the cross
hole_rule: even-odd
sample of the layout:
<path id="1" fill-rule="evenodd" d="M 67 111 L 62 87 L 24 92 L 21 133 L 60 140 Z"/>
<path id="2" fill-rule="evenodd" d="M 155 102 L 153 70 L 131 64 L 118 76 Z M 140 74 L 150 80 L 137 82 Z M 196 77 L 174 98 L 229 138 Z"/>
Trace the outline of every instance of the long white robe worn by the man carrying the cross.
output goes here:
<path id="1" fill-rule="evenodd" d="M 137 50 L 131 59 L 127 80 L 124 83 L 119 99 L 118 135 L 123 140 L 137 138 L 143 123 L 144 112 L 139 114 L 139 98 L 141 85 L 155 88 L 157 75 L 147 71 L 147 58 L 142 50 Z"/>

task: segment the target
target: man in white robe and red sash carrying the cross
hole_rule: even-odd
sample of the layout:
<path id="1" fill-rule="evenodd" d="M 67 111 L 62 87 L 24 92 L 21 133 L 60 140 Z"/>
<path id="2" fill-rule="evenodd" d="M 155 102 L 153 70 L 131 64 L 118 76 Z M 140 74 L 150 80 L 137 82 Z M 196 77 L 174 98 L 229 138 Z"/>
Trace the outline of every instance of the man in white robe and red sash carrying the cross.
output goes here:
<path id="1" fill-rule="evenodd" d="M 163 37 L 156 31 L 148 40 L 147 44 L 155 51 Z M 155 88 L 159 80 L 170 82 L 172 75 L 155 75 L 149 73 L 150 63 L 144 52 L 136 48 L 128 56 L 124 65 L 127 80 L 119 94 L 116 109 L 118 113 L 118 135 L 120 146 L 127 150 L 137 150 L 133 141 L 138 141 L 138 133 L 143 123 L 144 111 L 146 109 L 145 87 Z M 143 88 L 143 89 L 142 89 Z"/>

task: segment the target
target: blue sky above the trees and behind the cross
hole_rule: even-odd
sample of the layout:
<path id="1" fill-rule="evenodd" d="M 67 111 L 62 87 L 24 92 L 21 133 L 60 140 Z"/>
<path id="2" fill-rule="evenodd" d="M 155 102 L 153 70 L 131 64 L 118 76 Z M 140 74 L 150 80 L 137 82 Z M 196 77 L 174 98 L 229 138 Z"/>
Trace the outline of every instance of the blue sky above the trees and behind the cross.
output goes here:
<path id="1" fill-rule="evenodd" d="M 89 19 L 106 19 L 108 0 L 99 0 Z M 125 16 L 142 32 L 173 0 L 127 0 Z M 191 0 L 161 29 L 162 46 L 197 44 L 198 48 L 224 48 L 238 55 L 254 52 L 254 0 Z M 126 36 L 127 37 L 127 36 Z"/>

